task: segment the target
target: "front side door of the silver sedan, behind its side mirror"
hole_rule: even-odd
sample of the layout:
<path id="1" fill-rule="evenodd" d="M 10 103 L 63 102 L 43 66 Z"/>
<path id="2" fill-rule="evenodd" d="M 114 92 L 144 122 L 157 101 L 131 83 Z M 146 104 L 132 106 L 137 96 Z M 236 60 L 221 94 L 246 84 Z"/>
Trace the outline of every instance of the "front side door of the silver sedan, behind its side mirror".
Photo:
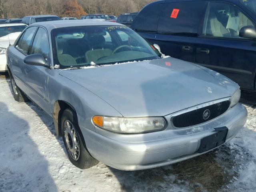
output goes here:
<path id="1" fill-rule="evenodd" d="M 49 40 L 44 28 L 38 28 L 29 53 L 42 54 L 50 66 Z M 45 66 L 28 64 L 24 66 L 27 95 L 48 114 L 51 114 L 48 97 L 48 74 L 50 70 Z"/>

